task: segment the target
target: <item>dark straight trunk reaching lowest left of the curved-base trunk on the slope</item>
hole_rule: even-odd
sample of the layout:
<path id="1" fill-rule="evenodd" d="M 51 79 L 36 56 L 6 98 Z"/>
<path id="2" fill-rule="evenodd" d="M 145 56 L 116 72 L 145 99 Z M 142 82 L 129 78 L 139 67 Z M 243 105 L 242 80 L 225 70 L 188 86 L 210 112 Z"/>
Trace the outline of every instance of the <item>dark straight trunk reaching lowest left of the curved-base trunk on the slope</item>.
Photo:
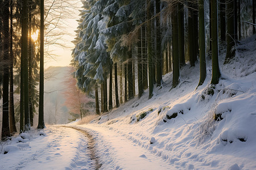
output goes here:
<path id="1" fill-rule="evenodd" d="M 172 76 L 172 88 L 175 88 L 179 84 L 179 30 L 177 20 L 177 5 L 174 6 L 172 14 L 172 56 L 174 57 L 174 71 Z"/>

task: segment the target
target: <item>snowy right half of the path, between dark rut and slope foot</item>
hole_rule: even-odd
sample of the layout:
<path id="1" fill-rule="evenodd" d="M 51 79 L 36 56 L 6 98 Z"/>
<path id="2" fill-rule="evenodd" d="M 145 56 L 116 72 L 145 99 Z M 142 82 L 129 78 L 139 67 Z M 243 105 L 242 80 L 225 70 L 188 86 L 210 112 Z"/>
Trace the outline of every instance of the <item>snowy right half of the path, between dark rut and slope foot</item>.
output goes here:
<path id="1" fill-rule="evenodd" d="M 96 155 L 101 163 L 100 169 L 170 169 L 172 165 L 125 136 L 102 126 L 71 126 L 88 131 L 96 141 Z M 172 167 L 175 169 L 175 167 Z"/>

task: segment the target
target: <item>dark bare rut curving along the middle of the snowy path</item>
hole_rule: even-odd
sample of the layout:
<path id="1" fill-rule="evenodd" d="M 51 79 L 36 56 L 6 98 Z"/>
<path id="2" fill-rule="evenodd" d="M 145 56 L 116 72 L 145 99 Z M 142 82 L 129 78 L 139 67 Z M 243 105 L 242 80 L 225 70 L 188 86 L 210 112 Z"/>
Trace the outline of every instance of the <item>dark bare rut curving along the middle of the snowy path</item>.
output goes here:
<path id="1" fill-rule="evenodd" d="M 80 133 L 84 134 L 85 137 L 89 139 L 87 148 L 88 148 L 89 153 L 90 153 L 90 159 L 93 160 L 93 162 L 94 162 L 94 164 L 93 164 L 94 168 L 96 170 L 100 169 L 101 164 L 99 163 L 98 156 L 96 155 L 96 149 L 95 149 L 96 141 L 93 139 L 93 136 L 90 135 L 85 130 L 81 130 L 81 129 L 78 129 L 78 128 L 75 128 L 75 127 L 70 127 L 70 126 L 63 126 L 63 127 L 75 129 L 75 130 L 79 131 Z"/>

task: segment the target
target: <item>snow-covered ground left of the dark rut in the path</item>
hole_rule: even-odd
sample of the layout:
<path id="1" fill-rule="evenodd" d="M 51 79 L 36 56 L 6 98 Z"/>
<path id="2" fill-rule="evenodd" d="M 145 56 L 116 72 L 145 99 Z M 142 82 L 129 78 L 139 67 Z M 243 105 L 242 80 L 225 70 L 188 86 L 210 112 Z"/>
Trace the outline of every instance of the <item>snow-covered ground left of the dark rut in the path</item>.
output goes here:
<path id="1" fill-rule="evenodd" d="M 97 169 L 88 150 L 90 140 L 83 133 L 58 125 L 48 125 L 44 132 L 30 131 L 26 138 L 2 146 L 10 148 L 10 156 L 3 154 L 0 169 Z"/>

